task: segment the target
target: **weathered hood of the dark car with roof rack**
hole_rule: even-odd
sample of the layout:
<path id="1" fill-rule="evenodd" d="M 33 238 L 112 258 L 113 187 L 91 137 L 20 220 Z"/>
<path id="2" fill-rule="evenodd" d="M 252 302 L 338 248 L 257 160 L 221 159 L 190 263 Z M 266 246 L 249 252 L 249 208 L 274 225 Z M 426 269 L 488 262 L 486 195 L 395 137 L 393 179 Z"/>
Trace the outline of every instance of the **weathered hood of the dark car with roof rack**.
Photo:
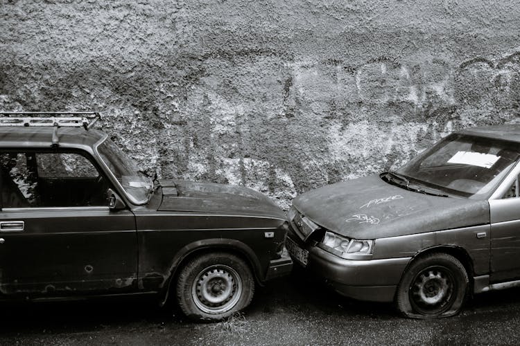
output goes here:
<path id="1" fill-rule="evenodd" d="M 162 188 L 160 211 L 211 212 L 286 219 L 275 203 L 260 192 L 238 185 L 159 181 Z"/>

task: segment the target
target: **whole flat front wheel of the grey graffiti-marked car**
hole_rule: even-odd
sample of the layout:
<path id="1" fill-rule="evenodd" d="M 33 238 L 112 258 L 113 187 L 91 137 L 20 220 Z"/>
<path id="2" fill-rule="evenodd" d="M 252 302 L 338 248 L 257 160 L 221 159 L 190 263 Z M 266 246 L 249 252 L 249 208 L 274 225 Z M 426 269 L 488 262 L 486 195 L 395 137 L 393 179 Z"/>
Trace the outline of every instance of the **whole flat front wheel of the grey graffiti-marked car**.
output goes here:
<path id="1" fill-rule="evenodd" d="M 464 266 L 447 253 L 419 257 L 406 270 L 396 293 L 397 309 L 409 318 L 440 318 L 459 313 L 467 298 Z"/>

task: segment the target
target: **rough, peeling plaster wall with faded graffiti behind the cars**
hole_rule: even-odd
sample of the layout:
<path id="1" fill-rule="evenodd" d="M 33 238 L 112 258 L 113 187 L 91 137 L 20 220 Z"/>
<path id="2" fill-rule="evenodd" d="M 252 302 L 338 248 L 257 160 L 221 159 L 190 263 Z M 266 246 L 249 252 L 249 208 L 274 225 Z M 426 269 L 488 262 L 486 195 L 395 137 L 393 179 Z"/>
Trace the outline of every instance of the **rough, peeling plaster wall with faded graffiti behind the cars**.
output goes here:
<path id="1" fill-rule="evenodd" d="M 0 0 L 0 108 L 96 110 L 159 176 L 295 194 L 517 122 L 516 1 Z"/>

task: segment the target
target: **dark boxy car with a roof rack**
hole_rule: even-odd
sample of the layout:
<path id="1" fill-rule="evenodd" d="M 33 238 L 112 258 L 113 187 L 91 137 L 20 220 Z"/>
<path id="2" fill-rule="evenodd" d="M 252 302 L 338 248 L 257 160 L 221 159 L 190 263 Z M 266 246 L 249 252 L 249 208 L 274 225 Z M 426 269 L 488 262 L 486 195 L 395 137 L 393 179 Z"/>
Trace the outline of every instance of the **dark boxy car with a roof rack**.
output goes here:
<path id="1" fill-rule="evenodd" d="M 168 293 L 198 320 L 291 271 L 284 212 L 259 192 L 152 179 L 97 113 L 2 113 L 1 298 Z"/>

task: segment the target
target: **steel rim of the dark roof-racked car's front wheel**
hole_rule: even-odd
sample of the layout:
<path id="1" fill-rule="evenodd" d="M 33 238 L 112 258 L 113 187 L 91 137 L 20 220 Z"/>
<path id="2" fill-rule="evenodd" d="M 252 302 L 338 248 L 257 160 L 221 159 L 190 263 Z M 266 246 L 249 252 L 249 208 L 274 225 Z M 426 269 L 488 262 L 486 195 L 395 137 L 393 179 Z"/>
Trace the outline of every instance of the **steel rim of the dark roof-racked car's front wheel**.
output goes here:
<path id="1" fill-rule="evenodd" d="M 232 309 L 242 295 L 242 280 L 233 268 L 216 264 L 202 269 L 193 281 L 191 296 L 205 313 L 225 313 Z"/>

